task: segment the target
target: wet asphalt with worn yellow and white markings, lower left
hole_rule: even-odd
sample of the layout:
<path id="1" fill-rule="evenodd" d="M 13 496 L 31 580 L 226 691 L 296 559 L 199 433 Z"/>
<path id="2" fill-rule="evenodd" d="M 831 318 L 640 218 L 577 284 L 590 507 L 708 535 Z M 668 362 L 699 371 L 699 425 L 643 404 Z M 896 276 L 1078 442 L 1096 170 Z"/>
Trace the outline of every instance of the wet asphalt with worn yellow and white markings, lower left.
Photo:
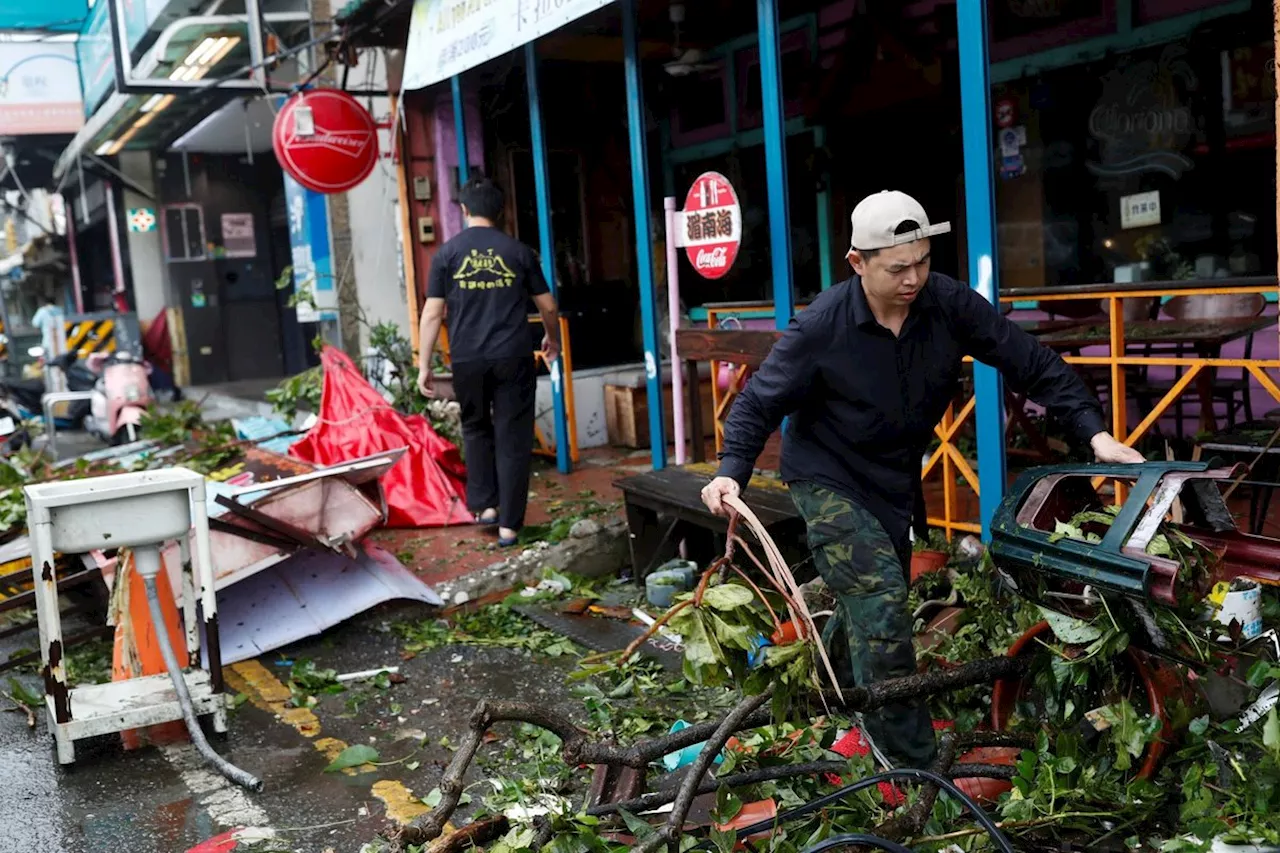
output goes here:
<path id="1" fill-rule="evenodd" d="M 265 827 L 271 838 L 228 849 L 355 853 L 388 820 L 403 822 L 425 811 L 413 797 L 435 786 L 452 754 L 442 738 L 457 742 L 481 698 L 532 701 L 580 715 L 581 701 L 563 678 L 572 665 L 567 658 L 445 647 L 402 660 L 392 624 L 430 615 L 417 605 L 383 607 L 324 637 L 229 667 L 233 685 L 252 680 L 248 701 L 232 712 L 230 731 L 210 740 L 264 780 L 259 794 L 205 770 L 189 743 L 125 752 L 116 736 L 79 742 L 76 763 L 63 768 L 42 719 L 31 730 L 24 715 L 0 713 L 0 853 L 180 853 L 239 826 Z M 312 721 L 300 724 L 292 713 L 276 713 L 283 708 L 273 707 L 271 689 L 284 690 L 276 699 L 287 697 L 287 663 L 305 658 L 338 672 L 399 666 L 406 680 L 385 689 L 352 683 L 320 698 Z M 38 692 L 35 674 L 17 678 Z M 355 744 L 374 747 L 389 766 L 324 772 L 332 754 Z M 483 777 L 474 770 L 468 781 Z"/>

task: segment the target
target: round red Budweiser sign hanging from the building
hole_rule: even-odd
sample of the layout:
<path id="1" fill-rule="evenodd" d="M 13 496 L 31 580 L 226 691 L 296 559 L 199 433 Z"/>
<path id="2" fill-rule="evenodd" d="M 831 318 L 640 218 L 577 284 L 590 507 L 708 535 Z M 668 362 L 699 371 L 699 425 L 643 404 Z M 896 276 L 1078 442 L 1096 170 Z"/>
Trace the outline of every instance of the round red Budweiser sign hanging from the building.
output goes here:
<path id="1" fill-rule="evenodd" d="M 315 192 L 344 192 L 378 163 L 374 117 L 347 92 L 298 92 L 275 115 L 271 146 L 280 168 Z"/>

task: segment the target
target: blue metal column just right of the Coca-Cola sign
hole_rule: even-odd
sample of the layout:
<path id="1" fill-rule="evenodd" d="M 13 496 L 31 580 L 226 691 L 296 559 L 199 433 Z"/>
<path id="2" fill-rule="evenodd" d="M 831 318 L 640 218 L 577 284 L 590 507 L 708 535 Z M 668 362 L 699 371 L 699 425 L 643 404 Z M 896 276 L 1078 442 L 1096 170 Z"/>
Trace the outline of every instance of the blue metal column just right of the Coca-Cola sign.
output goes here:
<path id="1" fill-rule="evenodd" d="M 791 288 L 791 211 L 787 205 L 787 136 L 782 122 L 782 46 L 777 0 L 755 0 L 760 31 L 760 101 L 764 108 L 764 179 L 769 187 L 769 260 L 773 266 L 773 315 L 787 328 L 795 311 Z"/>

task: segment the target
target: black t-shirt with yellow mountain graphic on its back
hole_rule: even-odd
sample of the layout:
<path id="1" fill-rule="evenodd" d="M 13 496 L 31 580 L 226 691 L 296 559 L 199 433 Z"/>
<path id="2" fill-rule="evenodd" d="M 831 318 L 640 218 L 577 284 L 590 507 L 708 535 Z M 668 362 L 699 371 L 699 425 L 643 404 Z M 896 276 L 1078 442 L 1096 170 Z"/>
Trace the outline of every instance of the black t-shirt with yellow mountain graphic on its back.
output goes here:
<path id="1" fill-rule="evenodd" d="M 449 357 L 532 357 L 530 298 L 547 293 L 534 251 L 497 228 L 474 225 L 444 243 L 431 261 L 429 298 L 448 307 Z"/>

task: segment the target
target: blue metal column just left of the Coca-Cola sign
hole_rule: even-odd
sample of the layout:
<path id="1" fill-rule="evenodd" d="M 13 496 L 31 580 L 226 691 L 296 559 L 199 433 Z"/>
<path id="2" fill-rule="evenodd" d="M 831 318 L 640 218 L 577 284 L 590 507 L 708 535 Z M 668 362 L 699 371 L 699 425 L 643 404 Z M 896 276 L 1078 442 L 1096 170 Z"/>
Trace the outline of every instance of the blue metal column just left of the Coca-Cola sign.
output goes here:
<path id="1" fill-rule="evenodd" d="M 635 0 L 622 0 L 623 70 L 627 77 L 627 131 L 631 137 L 631 195 L 636 220 L 636 270 L 640 274 L 640 325 L 649 391 L 649 447 L 653 467 L 667 466 L 667 430 L 662 414 L 662 352 L 658 350 L 658 301 L 653 287 L 653 229 L 649 222 L 649 151 L 644 131 L 644 88 L 636 38 Z M 678 366 L 676 368 L 678 369 Z"/>

